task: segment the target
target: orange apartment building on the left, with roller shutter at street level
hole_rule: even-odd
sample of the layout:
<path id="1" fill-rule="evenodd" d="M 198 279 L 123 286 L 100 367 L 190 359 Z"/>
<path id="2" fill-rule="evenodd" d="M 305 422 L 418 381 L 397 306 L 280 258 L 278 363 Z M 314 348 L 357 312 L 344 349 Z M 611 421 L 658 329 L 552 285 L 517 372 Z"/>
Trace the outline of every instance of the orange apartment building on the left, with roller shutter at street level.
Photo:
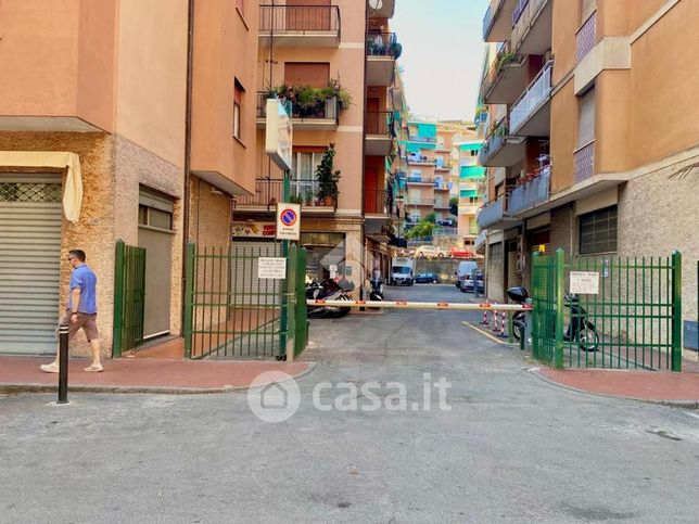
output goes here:
<path id="1" fill-rule="evenodd" d="M 257 16 L 256 0 L 0 4 L 0 353 L 55 352 L 81 248 L 110 355 L 118 239 L 145 250 L 142 336 L 179 334 L 183 242 L 227 245 L 231 195 L 254 191 Z"/>

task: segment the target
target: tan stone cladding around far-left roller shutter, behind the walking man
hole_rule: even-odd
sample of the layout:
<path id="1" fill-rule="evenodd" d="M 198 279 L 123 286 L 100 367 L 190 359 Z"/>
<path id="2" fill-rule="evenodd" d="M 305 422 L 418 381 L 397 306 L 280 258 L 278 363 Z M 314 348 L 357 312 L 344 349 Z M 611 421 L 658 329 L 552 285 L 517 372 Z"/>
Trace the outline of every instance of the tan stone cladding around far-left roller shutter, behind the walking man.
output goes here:
<path id="1" fill-rule="evenodd" d="M 98 276 L 98 329 L 102 354 L 112 354 L 114 289 L 114 139 L 101 132 L 0 132 L 2 151 L 69 151 L 80 156 L 82 207 L 77 223 L 63 219 L 61 227 L 61 299 L 64 310 L 68 298 L 71 267 L 67 252 L 80 248 L 87 264 Z M 63 176 L 65 181 L 65 175 Z M 74 355 L 89 355 L 84 334 L 71 345 Z"/>

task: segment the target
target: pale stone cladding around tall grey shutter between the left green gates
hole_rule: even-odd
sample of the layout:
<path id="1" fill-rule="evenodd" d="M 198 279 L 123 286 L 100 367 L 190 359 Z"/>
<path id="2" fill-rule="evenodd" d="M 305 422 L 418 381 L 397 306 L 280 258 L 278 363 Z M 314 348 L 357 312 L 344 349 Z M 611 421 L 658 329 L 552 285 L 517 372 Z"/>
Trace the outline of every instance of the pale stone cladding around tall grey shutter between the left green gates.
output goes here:
<path id="1" fill-rule="evenodd" d="M 138 245 L 139 188 L 160 191 L 175 202 L 173 214 L 173 253 L 170 286 L 170 332 L 181 331 L 182 282 L 182 193 L 183 167 L 176 166 L 144 150 L 125 137 L 115 137 L 114 146 L 114 237 Z"/>

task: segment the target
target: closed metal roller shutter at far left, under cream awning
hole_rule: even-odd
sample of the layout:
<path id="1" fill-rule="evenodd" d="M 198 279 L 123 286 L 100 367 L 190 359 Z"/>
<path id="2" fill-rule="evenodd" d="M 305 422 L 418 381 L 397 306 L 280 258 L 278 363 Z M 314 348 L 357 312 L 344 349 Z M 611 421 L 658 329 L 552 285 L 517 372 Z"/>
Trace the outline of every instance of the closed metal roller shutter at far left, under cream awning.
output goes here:
<path id="1" fill-rule="evenodd" d="M 0 175 L 0 353 L 55 353 L 61 256 L 58 176 Z"/>

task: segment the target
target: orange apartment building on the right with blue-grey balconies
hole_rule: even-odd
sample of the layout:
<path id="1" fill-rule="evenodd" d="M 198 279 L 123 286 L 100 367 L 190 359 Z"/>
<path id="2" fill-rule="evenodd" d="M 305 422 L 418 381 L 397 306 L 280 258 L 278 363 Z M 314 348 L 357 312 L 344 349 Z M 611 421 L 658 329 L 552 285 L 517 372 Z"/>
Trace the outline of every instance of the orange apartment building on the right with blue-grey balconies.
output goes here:
<path id="1" fill-rule="evenodd" d="M 532 251 L 684 255 L 683 317 L 697 310 L 699 43 L 690 0 L 493 0 L 488 294 L 529 283 Z M 541 247 L 539 247 L 541 246 Z"/>

